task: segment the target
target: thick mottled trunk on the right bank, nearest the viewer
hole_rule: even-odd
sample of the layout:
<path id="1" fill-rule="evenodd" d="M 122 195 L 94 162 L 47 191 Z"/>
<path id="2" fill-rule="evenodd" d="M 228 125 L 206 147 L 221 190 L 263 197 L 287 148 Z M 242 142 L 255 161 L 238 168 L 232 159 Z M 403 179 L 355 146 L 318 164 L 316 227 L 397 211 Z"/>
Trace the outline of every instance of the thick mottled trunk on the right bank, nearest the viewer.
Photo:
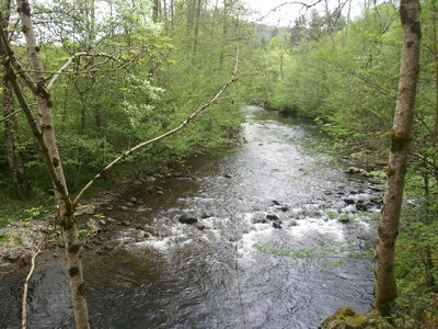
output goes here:
<path id="1" fill-rule="evenodd" d="M 396 298 L 394 275 L 395 239 L 403 201 L 404 178 L 411 141 L 415 94 L 419 72 L 419 0 L 401 0 L 400 18 L 403 26 L 403 57 L 400 68 L 399 92 L 394 123 L 391 128 L 391 152 L 383 197 L 382 216 L 378 226 L 376 251 L 374 307 L 390 315 Z"/>

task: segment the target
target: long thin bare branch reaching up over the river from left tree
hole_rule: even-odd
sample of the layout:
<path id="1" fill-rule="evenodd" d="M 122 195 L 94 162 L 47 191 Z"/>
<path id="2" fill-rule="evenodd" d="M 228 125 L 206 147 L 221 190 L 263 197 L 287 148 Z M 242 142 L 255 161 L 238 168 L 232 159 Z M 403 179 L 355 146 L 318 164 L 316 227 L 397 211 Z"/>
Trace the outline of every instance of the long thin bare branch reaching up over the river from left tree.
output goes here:
<path id="1" fill-rule="evenodd" d="M 163 139 L 170 135 L 175 134 L 176 132 L 181 131 L 185 125 L 187 125 L 195 116 L 197 116 L 199 113 L 201 113 L 204 110 L 208 109 L 210 105 L 212 105 L 214 103 L 216 103 L 219 100 L 219 97 L 223 93 L 223 91 L 226 91 L 226 89 L 228 87 L 230 87 L 234 81 L 235 81 L 235 73 L 238 72 L 238 66 L 239 66 L 239 47 L 235 52 L 235 61 L 234 61 L 234 69 L 231 73 L 230 79 L 227 81 L 226 84 L 223 84 L 219 91 L 205 104 L 200 105 L 199 107 L 197 107 L 185 121 L 183 121 L 178 126 L 176 126 L 175 128 L 160 135 L 157 136 L 152 139 L 149 139 L 147 141 L 140 143 L 139 145 L 128 149 L 127 151 L 125 151 L 124 154 L 122 154 L 122 156 L 119 156 L 118 158 L 114 159 L 111 163 L 108 163 L 104 169 L 102 169 L 90 182 L 87 183 L 87 185 L 78 193 L 77 197 L 73 201 L 73 208 L 78 205 L 80 198 L 82 197 L 82 195 L 106 172 L 108 171 L 111 168 L 113 168 L 116 163 L 120 162 L 123 159 L 129 157 L 131 154 L 134 154 L 135 151 L 143 148 L 145 146 L 148 146 L 152 143 L 155 143 L 160 139 Z"/>

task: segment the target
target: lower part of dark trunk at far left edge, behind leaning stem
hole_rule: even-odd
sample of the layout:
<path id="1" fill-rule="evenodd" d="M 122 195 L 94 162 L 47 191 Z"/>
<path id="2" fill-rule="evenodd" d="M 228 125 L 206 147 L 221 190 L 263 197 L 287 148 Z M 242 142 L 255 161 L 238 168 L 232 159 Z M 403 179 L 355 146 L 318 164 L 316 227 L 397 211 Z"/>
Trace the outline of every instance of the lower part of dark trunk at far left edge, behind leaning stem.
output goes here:
<path id="1" fill-rule="evenodd" d="M 13 93 L 9 82 L 3 83 L 3 110 L 4 116 L 13 113 Z M 30 196 L 26 172 L 23 164 L 23 158 L 18 148 L 19 124 L 15 115 L 12 115 L 4 122 L 4 137 L 8 154 L 9 168 L 11 169 L 13 181 L 21 198 Z"/>

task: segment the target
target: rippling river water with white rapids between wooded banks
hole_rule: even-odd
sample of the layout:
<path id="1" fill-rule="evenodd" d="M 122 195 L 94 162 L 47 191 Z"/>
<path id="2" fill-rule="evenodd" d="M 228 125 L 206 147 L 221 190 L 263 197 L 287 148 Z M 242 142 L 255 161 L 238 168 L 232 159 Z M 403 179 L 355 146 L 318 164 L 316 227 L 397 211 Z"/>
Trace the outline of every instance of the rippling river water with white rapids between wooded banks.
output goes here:
<path id="1" fill-rule="evenodd" d="M 371 262 L 357 256 L 372 249 L 374 222 L 357 208 L 377 212 L 378 189 L 316 151 L 311 124 L 243 112 L 241 146 L 102 212 L 126 226 L 106 232 L 120 241 L 115 250 L 83 256 L 94 328 L 318 328 L 345 305 L 369 308 Z M 139 202 L 122 209 L 131 196 Z M 206 229 L 178 223 L 182 214 Z M 346 215 L 353 220 L 341 223 Z M 136 241 L 143 231 L 152 237 Z M 16 274 L 3 275 L 1 328 L 19 327 L 20 290 Z M 30 328 L 73 328 L 61 257 L 39 259 Z"/>

